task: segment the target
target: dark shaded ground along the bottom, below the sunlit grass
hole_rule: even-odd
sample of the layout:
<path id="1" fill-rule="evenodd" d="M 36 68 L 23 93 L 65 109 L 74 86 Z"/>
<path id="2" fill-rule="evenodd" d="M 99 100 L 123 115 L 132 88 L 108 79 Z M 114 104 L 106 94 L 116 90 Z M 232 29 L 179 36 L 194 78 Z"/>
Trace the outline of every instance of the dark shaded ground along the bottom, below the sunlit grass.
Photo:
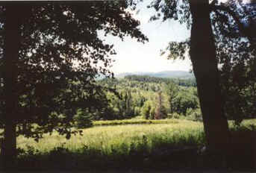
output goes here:
<path id="1" fill-rule="evenodd" d="M 24 151 L 19 149 L 19 157 L 13 163 L 16 170 L 199 170 L 199 169 L 233 169 L 239 171 L 255 170 L 256 130 L 240 128 L 231 130 L 231 156 L 223 164 L 223 158 L 212 154 L 199 153 L 196 145 L 159 144 L 147 148 L 145 141 L 139 145 L 131 143 L 129 148 L 119 151 L 112 148 L 104 153 L 96 148 L 69 151 L 63 146 L 48 153 L 40 153 L 34 148 Z M 144 139 L 145 140 L 145 139 Z"/>

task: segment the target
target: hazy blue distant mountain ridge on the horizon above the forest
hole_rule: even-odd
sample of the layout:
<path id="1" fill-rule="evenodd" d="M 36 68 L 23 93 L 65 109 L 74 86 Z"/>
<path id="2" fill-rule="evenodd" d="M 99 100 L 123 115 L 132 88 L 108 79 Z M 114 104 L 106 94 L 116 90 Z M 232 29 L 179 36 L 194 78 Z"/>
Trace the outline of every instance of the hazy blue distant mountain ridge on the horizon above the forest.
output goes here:
<path id="1" fill-rule="evenodd" d="M 186 71 L 163 71 L 163 72 L 125 72 L 115 75 L 116 78 L 124 78 L 128 75 L 148 75 L 157 78 L 194 78 L 193 73 Z"/>

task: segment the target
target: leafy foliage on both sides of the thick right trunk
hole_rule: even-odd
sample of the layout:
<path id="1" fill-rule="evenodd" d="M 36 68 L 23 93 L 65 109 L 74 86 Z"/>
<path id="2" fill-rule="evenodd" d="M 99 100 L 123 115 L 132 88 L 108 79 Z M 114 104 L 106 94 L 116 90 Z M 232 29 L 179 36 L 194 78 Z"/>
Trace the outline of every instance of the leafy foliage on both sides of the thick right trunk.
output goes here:
<path id="1" fill-rule="evenodd" d="M 225 115 L 237 123 L 255 115 L 255 29 L 256 4 L 244 4 L 240 0 L 222 3 L 210 1 L 210 19 L 219 62 L 222 101 Z M 152 20 L 174 19 L 191 26 L 189 1 L 155 0 L 149 5 L 156 10 Z M 161 54 L 168 59 L 184 60 L 190 49 L 190 38 L 182 42 L 170 42 Z"/>

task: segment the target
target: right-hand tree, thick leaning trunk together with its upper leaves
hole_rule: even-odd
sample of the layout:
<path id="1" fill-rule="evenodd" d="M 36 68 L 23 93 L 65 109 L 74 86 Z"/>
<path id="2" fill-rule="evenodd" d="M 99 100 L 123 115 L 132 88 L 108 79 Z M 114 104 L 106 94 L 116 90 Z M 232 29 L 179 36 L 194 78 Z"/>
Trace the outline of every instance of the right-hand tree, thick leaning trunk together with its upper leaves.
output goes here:
<path id="1" fill-rule="evenodd" d="M 239 14 L 239 4 L 241 1 L 230 0 L 226 4 L 217 0 L 157 0 L 152 1 L 149 7 L 154 7 L 157 11 L 154 19 L 175 19 L 182 23 L 187 23 L 187 28 L 191 28 L 190 40 L 181 43 L 172 42 L 169 44 L 169 57 L 181 57 L 184 59 L 186 48 L 190 48 L 190 60 L 193 64 L 193 72 L 196 76 L 197 89 L 200 105 L 202 109 L 207 147 L 215 153 L 228 151 L 229 130 L 228 122 L 224 116 L 222 95 L 219 81 L 218 58 L 216 56 L 216 40 L 213 34 L 211 21 L 212 13 L 227 13 L 237 26 L 240 37 L 247 37 L 251 43 L 255 39 L 255 32 L 252 32 L 254 22 L 252 22 L 252 12 L 247 11 L 247 16 L 251 19 L 250 27 L 246 27 L 241 22 Z M 234 8 L 235 7 L 235 8 Z M 238 10 L 237 10 L 238 9 Z M 220 24 L 226 18 L 218 15 Z M 225 25 L 219 25 L 225 29 Z"/>

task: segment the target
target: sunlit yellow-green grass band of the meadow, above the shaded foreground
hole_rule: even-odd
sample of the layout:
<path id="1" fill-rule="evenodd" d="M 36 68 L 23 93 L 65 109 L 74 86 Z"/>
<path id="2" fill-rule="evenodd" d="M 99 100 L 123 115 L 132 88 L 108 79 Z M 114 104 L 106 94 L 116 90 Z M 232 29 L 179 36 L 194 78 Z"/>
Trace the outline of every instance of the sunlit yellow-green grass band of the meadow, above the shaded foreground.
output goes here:
<path id="1" fill-rule="evenodd" d="M 160 124 L 156 124 L 157 121 Z M 104 122 L 113 124 L 112 122 L 116 121 Z M 28 146 L 32 146 L 39 151 L 48 152 L 58 146 L 69 148 L 70 151 L 78 151 L 79 148 L 86 146 L 108 154 L 111 152 L 111 148 L 115 148 L 120 153 L 127 152 L 122 149 L 128 148 L 129 150 L 131 144 L 136 147 L 143 140 L 144 142 L 146 140 L 145 145 L 149 150 L 161 144 L 202 145 L 204 142 L 202 123 L 199 122 L 178 119 L 154 120 L 151 125 L 129 125 L 125 122 L 127 120 L 122 122 L 123 125 L 87 128 L 83 130 L 83 136 L 72 136 L 69 140 L 57 133 L 53 133 L 51 136 L 45 135 L 39 142 L 19 136 L 18 147 L 26 149 Z"/>

